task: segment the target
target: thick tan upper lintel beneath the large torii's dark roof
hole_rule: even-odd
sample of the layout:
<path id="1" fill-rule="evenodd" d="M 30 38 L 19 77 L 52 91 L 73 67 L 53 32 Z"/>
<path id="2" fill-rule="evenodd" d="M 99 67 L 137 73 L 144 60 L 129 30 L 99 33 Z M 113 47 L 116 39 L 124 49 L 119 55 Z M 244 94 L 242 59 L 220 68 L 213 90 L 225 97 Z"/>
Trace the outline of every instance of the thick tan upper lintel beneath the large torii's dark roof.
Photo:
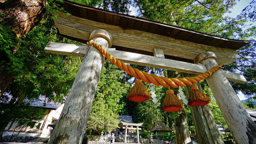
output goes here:
<path id="1" fill-rule="evenodd" d="M 113 36 L 113 45 L 154 52 L 154 48 L 162 49 L 166 55 L 194 60 L 204 52 L 214 52 L 219 64 L 228 65 L 236 60 L 236 50 L 196 44 L 177 40 L 167 36 L 160 36 L 148 32 L 123 29 L 92 20 L 82 19 L 73 15 L 63 15 L 58 12 L 58 21 L 55 21 L 60 34 L 79 39 L 89 40 L 88 36 L 95 29 L 105 29 Z"/>

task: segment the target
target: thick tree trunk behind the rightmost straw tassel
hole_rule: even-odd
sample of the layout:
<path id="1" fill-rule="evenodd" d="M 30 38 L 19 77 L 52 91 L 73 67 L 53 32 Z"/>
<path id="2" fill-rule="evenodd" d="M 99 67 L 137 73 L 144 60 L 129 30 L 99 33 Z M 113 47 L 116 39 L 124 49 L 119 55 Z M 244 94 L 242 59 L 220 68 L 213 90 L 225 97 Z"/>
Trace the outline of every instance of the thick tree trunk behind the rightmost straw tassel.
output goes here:
<path id="1" fill-rule="evenodd" d="M 196 75 L 182 73 L 182 77 L 192 77 Z M 196 83 L 200 91 L 203 91 L 203 88 L 199 83 Z M 191 92 L 190 86 L 185 87 L 185 93 L 187 97 Z M 200 144 L 224 144 L 224 141 L 220 135 L 220 132 L 215 124 L 212 112 L 209 108 L 209 105 L 202 107 L 192 107 L 189 106 L 192 119 L 196 129 L 196 136 Z"/>

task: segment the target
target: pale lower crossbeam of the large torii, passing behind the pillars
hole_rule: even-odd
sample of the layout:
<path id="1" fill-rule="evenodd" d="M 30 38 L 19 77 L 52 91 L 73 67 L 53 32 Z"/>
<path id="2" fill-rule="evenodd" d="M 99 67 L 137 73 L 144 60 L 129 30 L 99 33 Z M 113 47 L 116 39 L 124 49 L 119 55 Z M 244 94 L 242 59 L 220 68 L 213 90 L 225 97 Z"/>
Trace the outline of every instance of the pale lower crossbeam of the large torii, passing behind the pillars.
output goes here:
<path id="1" fill-rule="evenodd" d="M 89 45 L 75 45 L 75 44 L 62 44 L 49 42 L 44 51 L 46 53 L 62 54 L 62 55 L 72 55 L 84 57 Z M 191 64 L 187 62 L 163 59 L 138 53 L 117 51 L 114 48 L 108 48 L 107 52 L 112 54 L 116 59 L 124 63 L 136 64 L 140 66 L 147 66 L 152 68 L 162 68 L 167 70 L 185 72 L 189 74 L 200 75 L 207 71 L 205 66 Z M 246 79 L 243 75 L 222 70 L 224 75 L 229 81 L 244 84 Z"/>

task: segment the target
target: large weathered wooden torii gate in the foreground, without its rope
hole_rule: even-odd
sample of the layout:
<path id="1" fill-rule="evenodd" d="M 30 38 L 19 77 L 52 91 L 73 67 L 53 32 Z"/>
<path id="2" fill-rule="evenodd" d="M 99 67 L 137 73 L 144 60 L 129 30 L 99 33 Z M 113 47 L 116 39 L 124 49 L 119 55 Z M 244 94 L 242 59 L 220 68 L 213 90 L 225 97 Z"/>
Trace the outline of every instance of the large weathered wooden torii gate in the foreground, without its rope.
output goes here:
<path id="1" fill-rule="evenodd" d="M 118 50 L 108 49 L 108 53 L 131 64 L 198 75 L 218 64 L 232 63 L 236 60 L 236 49 L 250 43 L 66 0 L 61 6 L 72 15 L 56 12 L 59 18 L 55 25 L 60 35 L 82 43 L 92 39 L 105 50 L 113 43 Z M 95 47 L 86 44 L 49 42 L 45 52 L 84 57 L 49 141 L 50 144 L 82 143 L 104 57 Z M 155 57 L 150 56 L 153 54 Z M 217 70 L 206 79 L 236 143 L 256 143 L 256 125 L 228 80 L 246 83 L 244 76 L 224 70 Z"/>

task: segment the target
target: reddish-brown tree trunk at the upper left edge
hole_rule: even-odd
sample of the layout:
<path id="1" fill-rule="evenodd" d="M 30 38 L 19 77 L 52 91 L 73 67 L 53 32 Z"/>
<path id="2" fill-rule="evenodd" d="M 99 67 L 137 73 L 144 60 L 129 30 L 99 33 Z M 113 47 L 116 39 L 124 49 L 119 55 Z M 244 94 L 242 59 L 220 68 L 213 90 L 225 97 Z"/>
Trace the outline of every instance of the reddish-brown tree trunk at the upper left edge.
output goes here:
<path id="1" fill-rule="evenodd" d="M 4 17 L 0 19 L 0 24 L 12 28 L 17 37 L 25 38 L 26 34 L 42 19 L 45 12 L 44 7 L 44 0 L 2 0 L 0 1 L 0 13 Z M 13 49 L 13 53 L 16 51 Z M 0 61 L 8 61 L 6 55 L 1 53 Z M 0 97 L 12 82 L 14 75 L 8 73 L 6 69 L 0 71 Z"/>

